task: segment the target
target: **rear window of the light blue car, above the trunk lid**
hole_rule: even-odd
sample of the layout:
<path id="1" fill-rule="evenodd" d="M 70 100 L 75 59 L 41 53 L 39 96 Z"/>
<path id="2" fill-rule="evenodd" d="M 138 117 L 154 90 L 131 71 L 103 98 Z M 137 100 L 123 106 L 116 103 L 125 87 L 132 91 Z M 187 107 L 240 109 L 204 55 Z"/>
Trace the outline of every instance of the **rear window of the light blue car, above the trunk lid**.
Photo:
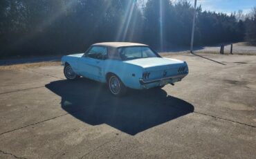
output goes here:
<path id="1" fill-rule="evenodd" d="M 159 57 L 154 51 L 147 46 L 129 46 L 118 48 L 118 53 L 120 54 L 121 59 L 130 60 L 130 59 L 141 59 L 148 57 Z"/>

